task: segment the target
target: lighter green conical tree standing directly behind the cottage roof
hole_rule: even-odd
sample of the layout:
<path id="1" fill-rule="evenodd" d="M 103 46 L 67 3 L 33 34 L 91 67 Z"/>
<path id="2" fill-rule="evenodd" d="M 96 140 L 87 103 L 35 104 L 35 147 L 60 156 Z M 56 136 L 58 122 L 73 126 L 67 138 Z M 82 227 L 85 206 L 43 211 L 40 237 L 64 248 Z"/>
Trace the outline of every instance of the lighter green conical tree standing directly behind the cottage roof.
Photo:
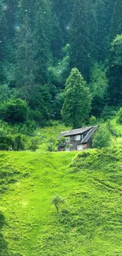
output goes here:
<path id="1" fill-rule="evenodd" d="M 87 83 L 78 69 L 72 69 L 65 84 L 65 102 L 61 113 L 65 124 L 79 128 L 87 120 L 91 108 L 91 95 Z"/>

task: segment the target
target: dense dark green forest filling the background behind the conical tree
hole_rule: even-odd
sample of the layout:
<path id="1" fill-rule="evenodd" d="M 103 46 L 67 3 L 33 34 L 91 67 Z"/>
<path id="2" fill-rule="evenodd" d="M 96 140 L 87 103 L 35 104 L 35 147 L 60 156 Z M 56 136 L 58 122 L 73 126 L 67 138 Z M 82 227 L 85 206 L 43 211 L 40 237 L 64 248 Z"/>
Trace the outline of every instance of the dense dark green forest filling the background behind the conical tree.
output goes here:
<path id="1" fill-rule="evenodd" d="M 90 116 L 119 108 L 121 13 L 121 0 L 0 0 L 2 121 L 60 119 L 73 68 L 87 82 Z"/>

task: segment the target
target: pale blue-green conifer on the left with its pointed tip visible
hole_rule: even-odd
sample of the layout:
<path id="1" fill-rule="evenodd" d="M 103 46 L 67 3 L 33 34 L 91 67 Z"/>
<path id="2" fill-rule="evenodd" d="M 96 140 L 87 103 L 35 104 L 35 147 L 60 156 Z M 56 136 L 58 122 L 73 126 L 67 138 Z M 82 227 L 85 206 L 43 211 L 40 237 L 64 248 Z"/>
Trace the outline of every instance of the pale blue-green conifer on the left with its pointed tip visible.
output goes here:
<path id="1" fill-rule="evenodd" d="M 24 21 L 18 27 L 16 37 L 16 80 L 17 86 L 21 88 L 22 97 L 29 98 L 31 86 L 35 80 L 35 49 L 33 33 L 30 28 L 28 13 Z"/>

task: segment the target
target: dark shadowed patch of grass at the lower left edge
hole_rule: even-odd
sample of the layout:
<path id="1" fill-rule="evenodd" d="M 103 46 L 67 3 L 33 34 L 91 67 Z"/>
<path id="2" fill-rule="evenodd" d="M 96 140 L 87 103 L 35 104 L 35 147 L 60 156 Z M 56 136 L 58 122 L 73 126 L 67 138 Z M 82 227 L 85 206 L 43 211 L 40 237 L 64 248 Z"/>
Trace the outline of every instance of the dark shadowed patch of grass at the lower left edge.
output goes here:
<path id="1" fill-rule="evenodd" d="M 2 227 L 6 224 L 6 220 L 2 212 L 0 212 L 0 255 L 9 256 L 8 247 L 4 236 L 2 235 Z"/>

